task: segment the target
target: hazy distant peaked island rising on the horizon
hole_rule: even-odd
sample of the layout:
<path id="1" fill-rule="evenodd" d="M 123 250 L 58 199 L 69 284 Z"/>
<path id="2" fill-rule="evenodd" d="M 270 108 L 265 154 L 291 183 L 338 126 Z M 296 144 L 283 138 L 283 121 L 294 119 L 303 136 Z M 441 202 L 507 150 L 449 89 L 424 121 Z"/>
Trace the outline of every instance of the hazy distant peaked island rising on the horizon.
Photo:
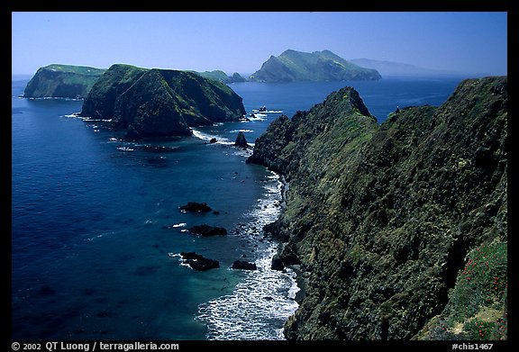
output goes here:
<path id="1" fill-rule="evenodd" d="M 378 80 L 376 69 L 361 68 L 330 50 L 312 53 L 286 50 L 278 57 L 271 56 L 253 73 L 252 82 L 298 82 Z"/>

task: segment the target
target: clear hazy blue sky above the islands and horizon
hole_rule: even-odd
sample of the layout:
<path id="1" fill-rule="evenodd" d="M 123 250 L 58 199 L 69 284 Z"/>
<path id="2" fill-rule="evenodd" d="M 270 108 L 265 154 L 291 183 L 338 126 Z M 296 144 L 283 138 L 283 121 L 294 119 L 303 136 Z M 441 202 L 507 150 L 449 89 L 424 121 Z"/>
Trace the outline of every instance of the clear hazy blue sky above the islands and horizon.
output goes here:
<path id="1" fill-rule="evenodd" d="M 12 73 L 52 63 L 250 74 L 287 49 L 507 74 L 506 13 L 13 13 Z"/>

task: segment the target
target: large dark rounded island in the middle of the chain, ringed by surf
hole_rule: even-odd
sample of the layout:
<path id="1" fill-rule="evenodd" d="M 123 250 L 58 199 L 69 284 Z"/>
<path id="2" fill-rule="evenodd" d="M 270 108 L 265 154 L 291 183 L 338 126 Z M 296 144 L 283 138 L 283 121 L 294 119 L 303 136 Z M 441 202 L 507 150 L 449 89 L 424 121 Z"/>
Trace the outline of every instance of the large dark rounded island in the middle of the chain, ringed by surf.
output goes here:
<path id="1" fill-rule="evenodd" d="M 113 65 L 99 78 L 81 115 L 110 120 L 129 137 L 188 135 L 190 126 L 239 121 L 241 97 L 195 73 Z"/>

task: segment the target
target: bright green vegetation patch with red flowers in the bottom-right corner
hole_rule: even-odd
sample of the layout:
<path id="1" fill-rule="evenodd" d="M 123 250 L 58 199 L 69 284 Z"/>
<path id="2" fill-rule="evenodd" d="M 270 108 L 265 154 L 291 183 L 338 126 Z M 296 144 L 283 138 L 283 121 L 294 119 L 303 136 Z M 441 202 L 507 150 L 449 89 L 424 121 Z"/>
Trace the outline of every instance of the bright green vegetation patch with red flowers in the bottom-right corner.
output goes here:
<path id="1" fill-rule="evenodd" d="M 506 242 L 496 239 L 472 249 L 445 309 L 423 329 L 421 338 L 506 339 L 507 274 Z"/>

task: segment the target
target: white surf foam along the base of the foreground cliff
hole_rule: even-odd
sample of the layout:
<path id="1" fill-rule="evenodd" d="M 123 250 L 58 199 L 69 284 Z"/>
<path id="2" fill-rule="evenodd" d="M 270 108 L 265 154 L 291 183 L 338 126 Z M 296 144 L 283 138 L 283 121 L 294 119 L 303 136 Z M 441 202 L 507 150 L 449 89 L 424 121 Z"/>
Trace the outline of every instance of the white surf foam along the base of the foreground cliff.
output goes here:
<path id="1" fill-rule="evenodd" d="M 281 183 L 276 174 L 269 178 L 265 197 L 249 213 L 250 239 L 258 239 L 261 230 L 257 229 L 278 218 Z M 255 246 L 260 254 L 255 260 L 258 270 L 243 271 L 245 277 L 232 294 L 198 307 L 196 319 L 207 324 L 208 339 L 285 339 L 283 325 L 298 307 L 296 273 L 288 268 L 285 272 L 270 268 L 277 248 L 275 242 L 258 240 Z"/>

